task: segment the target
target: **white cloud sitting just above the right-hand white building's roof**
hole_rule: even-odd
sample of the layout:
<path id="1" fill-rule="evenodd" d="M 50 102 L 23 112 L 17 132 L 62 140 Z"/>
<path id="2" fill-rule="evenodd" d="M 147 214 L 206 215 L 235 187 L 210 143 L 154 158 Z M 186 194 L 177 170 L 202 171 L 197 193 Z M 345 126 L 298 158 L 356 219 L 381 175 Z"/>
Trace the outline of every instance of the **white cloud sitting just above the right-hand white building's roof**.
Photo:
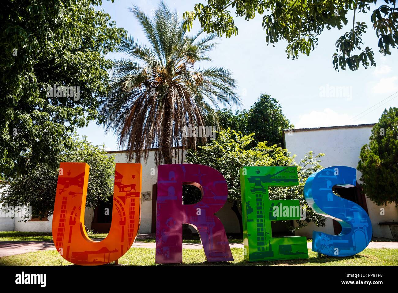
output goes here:
<path id="1" fill-rule="evenodd" d="M 353 120 L 354 115 L 338 113 L 330 108 L 323 111 L 312 111 L 308 114 L 300 115 L 295 128 L 313 128 L 324 126 L 363 124 L 363 120 Z"/>

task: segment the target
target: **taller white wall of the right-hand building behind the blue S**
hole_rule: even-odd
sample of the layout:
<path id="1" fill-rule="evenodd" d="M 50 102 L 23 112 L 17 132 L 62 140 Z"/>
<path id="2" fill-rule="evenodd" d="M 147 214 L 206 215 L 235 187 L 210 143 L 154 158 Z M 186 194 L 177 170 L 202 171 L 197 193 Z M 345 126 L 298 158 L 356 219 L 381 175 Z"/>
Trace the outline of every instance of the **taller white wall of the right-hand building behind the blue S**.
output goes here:
<path id="1" fill-rule="evenodd" d="M 285 131 L 285 147 L 292 156 L 297 155 L 297 162 L 304 157 L 306 152 L 312 150 L 315 155 L 325 153 L 325 156 L 321 158 L 321 165 L 324 167 L 344 165 L 356 168 L 361 147 L 369 142 L 372 128 L 372 124 L 365 124 L 351 127 Z M 359 178 L 361 178 L 361 172 L 357 171 L 357 181 L 362 183 Z M 397 222 L 398 208 L 392 204 L 377 206 L 368 197 L 366 203 L 372 222 L 373 236 L 392 238 L 389 226 L 378 225 L 378 223 L 390 220 Z M 384 208 L 384 215 L 380 215 L 381 208 Z M 334 234 L 333 222 L 331 219 L 327 219 L 324 227 L 317 227 L 310 223 L 298 230 L 296 235 L 312 238 L 312 231 Z"/>

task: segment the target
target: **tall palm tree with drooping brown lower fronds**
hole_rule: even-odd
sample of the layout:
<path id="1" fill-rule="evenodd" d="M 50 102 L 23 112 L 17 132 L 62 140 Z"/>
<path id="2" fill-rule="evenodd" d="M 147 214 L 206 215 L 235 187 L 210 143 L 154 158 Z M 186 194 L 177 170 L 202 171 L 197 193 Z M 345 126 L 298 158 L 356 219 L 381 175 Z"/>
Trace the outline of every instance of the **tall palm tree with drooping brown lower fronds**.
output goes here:
<path id="1" fill-rule="evenodd" d="M 129 161 L 146 161 L 149 149 L 156 148 L 156 164 L 170 164 L 174 146 L 195 148 L 198 139 L 206 142 L 205 137 L 185 137 L 184 126 L 217 124 L 218 104 L 240 105 L 235 80 L 223 67 L 196 66 L 211 60 L 207 52 L 216 45 L 215 34 L 185 35 L 177 12 L 163 2 L 153 20 L 137 6 L 130 11 L 150 46 L 132 36 L 122 39 L 119 51 L 131 58 L 113 61 L 110 88 L 99 111 L 106 131 L 118 135 L 120 148 L 126 146 Z"/>

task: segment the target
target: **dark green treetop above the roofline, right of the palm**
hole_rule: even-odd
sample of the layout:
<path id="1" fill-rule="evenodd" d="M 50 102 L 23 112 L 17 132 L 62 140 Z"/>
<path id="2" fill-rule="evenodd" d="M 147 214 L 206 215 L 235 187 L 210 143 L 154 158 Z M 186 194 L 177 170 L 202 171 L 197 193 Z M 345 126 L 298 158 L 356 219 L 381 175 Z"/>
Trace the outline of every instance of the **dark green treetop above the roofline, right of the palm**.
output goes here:
<path id="1" fill-rule="evenodd" d="M 282 146 L 283 130 L 294 127 L 283 114 L 278 100 L 268 94 L 261 94 L 250 110 L 236 110 L 234 114 L 223 109 L 218 115 L 222 128 L 231 128 L 245 135 L 254 134 L 249 147 L 255 147 L 259 142 Z"/>

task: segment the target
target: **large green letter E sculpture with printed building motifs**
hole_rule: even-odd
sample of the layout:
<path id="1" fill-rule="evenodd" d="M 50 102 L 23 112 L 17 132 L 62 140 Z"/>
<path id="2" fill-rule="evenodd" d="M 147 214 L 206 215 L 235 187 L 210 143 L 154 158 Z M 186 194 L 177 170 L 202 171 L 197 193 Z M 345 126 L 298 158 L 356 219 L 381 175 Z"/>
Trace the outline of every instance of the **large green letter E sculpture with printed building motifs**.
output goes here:
<path id="1" fill-rule="evenodd" d="M 297 167 L 240 169 L 245 260 L 308 258 L 305 237 L 272 237 L 271 221 L 299 219 L 300 204 L 298 199 L 270 201 L 268 187 L 294 185 L 298 185 Z"/>

